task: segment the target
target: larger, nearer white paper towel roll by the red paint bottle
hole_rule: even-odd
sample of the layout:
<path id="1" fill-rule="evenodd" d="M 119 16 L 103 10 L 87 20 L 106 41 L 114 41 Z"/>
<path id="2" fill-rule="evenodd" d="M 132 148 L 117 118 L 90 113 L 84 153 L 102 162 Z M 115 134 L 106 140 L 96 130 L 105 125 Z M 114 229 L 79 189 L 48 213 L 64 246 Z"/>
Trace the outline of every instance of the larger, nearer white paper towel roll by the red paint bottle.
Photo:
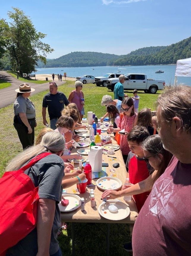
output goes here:
<path id="1" fill-rule="evenodd" d="M 94 173 L 102 171 L 102 147 L 92 146 L 88 152 L 88 160 Z"/>

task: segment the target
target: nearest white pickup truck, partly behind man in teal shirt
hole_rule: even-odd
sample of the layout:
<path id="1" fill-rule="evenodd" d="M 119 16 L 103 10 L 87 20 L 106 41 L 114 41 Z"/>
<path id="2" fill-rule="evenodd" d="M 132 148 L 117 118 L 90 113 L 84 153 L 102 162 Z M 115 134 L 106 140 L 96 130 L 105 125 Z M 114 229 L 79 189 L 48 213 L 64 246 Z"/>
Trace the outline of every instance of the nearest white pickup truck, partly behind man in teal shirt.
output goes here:
<path id="1" fill-rule="evenodd" d="M 123 83 L 124 89 L 130 90 L 143 90 L 145 93 L 155 94 L 157 90 L 163 90 L 165 81 L 154 80 L 147 78 L 145 74 L 126 74 L 125 81 Z M 107 87 L 111 91 L 114 91 L 115 84 L 119 82 L 117 78 L 111 78 L 107 80 Z"/>

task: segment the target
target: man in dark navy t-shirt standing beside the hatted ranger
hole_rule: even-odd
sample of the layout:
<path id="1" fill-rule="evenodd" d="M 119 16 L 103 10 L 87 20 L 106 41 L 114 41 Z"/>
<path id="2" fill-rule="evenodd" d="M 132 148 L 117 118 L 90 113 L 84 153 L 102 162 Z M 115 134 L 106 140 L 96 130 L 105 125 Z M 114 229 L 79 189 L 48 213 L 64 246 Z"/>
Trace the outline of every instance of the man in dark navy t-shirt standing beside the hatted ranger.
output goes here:
<path id="1" fill-rule="evenodd" d="M 50 117 L 50 128 L 55 130 L 56 123 L 61 116 L 61 111 L 64 105 L 67 106 L 69 101 L 63 92 L 58 91 L 58 86 L 55 82 L 49 83 L 50 92 L 45 94 L 42 101 L 42 118 L 43 124 L 47 125 L 46 108 L 48 107 L 48 114 Z"/>

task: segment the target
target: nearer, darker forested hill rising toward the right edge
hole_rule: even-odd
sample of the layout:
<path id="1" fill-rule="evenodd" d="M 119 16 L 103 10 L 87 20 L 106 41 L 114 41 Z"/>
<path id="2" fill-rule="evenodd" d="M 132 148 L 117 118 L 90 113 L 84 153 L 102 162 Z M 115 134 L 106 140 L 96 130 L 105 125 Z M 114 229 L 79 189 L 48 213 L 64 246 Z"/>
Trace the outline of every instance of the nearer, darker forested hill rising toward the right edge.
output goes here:
<path id="1" fill-rule="evenodd" d="M 150 47 L 146 47 L 150 48 Z M 152 48 L 152 47 L 151 47 Z M 142 48 L 145 49 L 145 48 Z M 140 50 L 140 49 L 139 49 Z M 184 39 L 176 44 L 171 44 L 152 54 L 140 54 L 139 50 L 131 52 L 124 58 L 115 60 L 112 65 L 120 66 L 142 66 L 142 65 L 160 65 L 176 64 L 179 59 L 191 57 L 191 37 Z M 111 64 L 110 64 L 111 65 Z"/>

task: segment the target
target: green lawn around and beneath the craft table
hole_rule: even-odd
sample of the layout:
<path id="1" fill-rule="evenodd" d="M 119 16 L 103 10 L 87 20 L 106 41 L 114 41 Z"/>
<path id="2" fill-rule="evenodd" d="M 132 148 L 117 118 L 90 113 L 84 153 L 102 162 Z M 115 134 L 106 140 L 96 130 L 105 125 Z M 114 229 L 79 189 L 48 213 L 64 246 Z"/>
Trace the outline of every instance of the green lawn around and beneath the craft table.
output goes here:
<path id="1" fill-rule="evenodd" d="M 64 85 L 59 86 L 59 91 L 64 92 L 68 97 L 70 92 L 75 89 L 75 81 L 67 81 Z M 42 99 L 48 90 L 40 92 L 30 97 L 36 108 L 37 127 L 35 128 L 35 136 L 45 126 L 42 123 Z M 83 85 L 83 93 L 85 97 L 85 116 L 87 111 L 93 111 L 98 117 L 105 114 L 105 106 L 101 106 L 102 96 L 105 94 L 113 97 L 113 92 L 105 87 L 98 87 L 94 84 Z M 133 96 L 132 90 L 125 91 L 129 96 Z M 154 110 L 154 102 L 157 100 L 157 94 L 145 94 L 139 92 L 140 103 L 139 109 L 151 108 Z M 18 139 L 17 132 L 13 127 L 13 104 L 0 109 L 0 176 L 3 175 L 4 169 L 14 156 L 22 151 L 21 143 Z M 48 117 L 48 115 L 47 115 Z M 106 252 L 106 224 L 88 224 L 76 223 L 76 255 L 105 255 Z M 67 231 L 59 237 L 59 244 L 64 256 L 71 255 L 71 224 L 68 223 Z M 110 255 L 132 255 L 122 249 L 122 244 L 130 241 L 129 225 L 127 224 L 111 224 L 110 232 Z"/>

